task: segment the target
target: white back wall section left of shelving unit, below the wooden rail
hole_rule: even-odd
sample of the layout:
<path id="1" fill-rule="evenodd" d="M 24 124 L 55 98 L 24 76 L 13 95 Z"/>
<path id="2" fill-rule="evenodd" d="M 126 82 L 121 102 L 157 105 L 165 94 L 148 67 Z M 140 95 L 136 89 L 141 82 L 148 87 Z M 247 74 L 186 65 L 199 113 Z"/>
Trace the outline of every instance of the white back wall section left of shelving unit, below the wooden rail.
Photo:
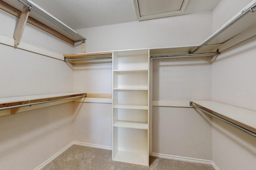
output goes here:
<path id="1" fill-rule="evenodd" d="M 74 141 L 111 148 L 111 104 L 74 102 Z"/>

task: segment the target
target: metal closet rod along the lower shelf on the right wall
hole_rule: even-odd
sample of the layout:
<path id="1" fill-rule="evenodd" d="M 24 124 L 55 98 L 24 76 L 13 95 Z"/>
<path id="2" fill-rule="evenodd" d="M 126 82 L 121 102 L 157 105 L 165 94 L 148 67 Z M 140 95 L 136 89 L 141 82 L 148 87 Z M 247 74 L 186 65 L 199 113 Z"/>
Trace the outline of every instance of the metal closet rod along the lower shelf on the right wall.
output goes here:
<path id="1" fill-rule="evenodd" d="M 248 133 L 249 135 L 252 135 L 253 137 L 256 137 L 256 133 L 254 133 L 254 132 L 252 132 L 252 131 L 249 131 L 249 130 L 247 130 L 247 129 L 241 127 L 241 126 L 238 126 L 238 125 L 236 125 L 236 124 L 234 124 L 234 123 L 232 123 L 232 122 L 230 122 L 230 121 L 227 121 L 226 119 L 223 119 L 222 117 L 219 117 L 219 116 L 217 116 L 217 115 L 214 115 L 214 114 L 212 114 L 211 112 L 206 111 L 206 110 L 204 110 L 204 109 L 202 109 L 202 108 L 200 108 L 200 107 L 197 107 L 197 106 L 193 105 L 193 102 L 189 102 L 189 105 L 190 105 L 190 106 L 193 106 L 193 107 L 195 107 L 195 108 L 197 108 L 197 109 L 199 109 L 199 110 L 201 110 L 201 111 L 203 111 L 204 113 L 206 113 L 206 114 L 208 114 L 208 115 L 210 115 L 210 116 L 212 116 L 212 117 L 215 117 L 216 119 L 219 119 L 219 120 L 221 120 L 221 121 L 224 121 L 225 123 L 228 123 L 229 125 L 231 125 L 231 126 L 237 128 L 237 129 L 239 129 L 239 130 L 241 130 L 241 131 L 243 131 L 243 132 L 245 132 L 245 133 Z"/>

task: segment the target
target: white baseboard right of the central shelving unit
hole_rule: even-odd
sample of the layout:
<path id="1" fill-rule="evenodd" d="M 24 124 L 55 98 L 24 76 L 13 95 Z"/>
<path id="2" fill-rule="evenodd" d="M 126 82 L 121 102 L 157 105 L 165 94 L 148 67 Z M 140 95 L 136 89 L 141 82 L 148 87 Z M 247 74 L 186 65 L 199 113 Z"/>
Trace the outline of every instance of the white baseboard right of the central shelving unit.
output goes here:
<path id="1" fill-rule="evenodd" d="M 204 159 L 196 159 L 196 158 L 188 158 L 188 157 L 183 157 L 183 156 L 174 156 L 174 155 L 168 155 L 168 154 L 160 154 L 160 153 L 152 153 L 152 156 L 156 156 L 159 158 L 167 158 L 167 159 L 174 159 L 174 160 L 182 160 L 186 162 L 193 162 L 193 163 L 199 163 L 199 164 L 208 164 L 212 165 L 212 167 L 215 170 L 220 170 L 212 160 L 204 160 Z"/>

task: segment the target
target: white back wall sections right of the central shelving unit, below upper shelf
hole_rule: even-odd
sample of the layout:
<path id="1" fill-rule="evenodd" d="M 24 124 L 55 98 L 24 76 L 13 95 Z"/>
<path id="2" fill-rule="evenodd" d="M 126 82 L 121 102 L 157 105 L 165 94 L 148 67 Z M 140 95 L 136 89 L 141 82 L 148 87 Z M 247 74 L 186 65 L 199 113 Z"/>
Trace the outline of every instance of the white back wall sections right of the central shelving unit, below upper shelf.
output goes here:
<path id="1" fill-rule="evenodd" d="M 208 57 L 153 60 L 153 100 L 210 100 Z M 153 107 L 154 153 L 212 159 L 211 117 L 193 108 Z"/>

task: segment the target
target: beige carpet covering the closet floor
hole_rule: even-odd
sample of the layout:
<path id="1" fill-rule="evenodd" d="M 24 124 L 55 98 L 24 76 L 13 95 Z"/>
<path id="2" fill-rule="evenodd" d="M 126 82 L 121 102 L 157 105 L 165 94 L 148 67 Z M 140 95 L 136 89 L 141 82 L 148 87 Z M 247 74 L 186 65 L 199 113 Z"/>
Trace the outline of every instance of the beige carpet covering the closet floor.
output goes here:
<path id="1" fill-rule="evenodd" d="M 112 151 L 73 145 L 42 170 L 214 170 L 211 165 L 150 156 L 150 166 L 112 161 Z"/>

